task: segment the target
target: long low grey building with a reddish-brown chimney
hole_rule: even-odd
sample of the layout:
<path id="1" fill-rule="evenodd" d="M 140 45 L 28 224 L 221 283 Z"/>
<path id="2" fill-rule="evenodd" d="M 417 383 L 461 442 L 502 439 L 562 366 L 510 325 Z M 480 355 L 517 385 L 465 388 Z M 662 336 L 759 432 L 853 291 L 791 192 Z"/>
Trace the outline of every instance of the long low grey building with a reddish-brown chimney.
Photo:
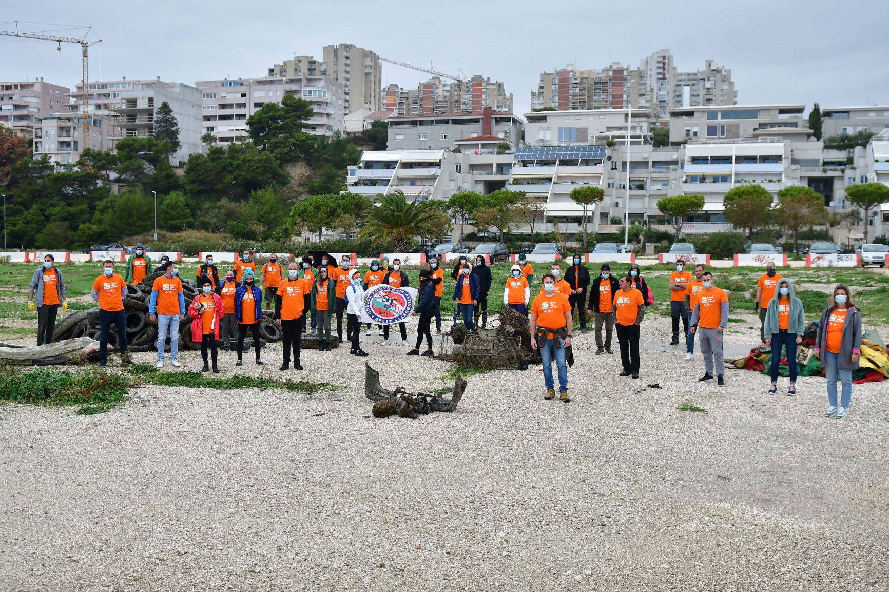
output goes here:
<path id="1" fill-rule="evenodd" d="M 387 147 L 390 150 L 454 148 L 460 140 L 493 140 L 517 146 L 522 138 L 522 120 L 512 113 L 485 107 L 477 114 L 390 116 Z"/>

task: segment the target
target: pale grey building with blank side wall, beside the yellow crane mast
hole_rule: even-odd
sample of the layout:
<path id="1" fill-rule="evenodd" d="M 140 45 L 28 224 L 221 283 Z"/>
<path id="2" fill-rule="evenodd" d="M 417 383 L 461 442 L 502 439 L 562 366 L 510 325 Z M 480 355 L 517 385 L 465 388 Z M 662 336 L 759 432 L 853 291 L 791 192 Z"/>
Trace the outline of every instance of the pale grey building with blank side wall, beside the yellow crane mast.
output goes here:
<path id="1" fill-rule="evenodd" d="M 81 100 L 84 85 L 77 84 L 69 96 Z M 91 82 L 86 89 L 90 113 L 105 120 L 109 149 L 121 138 L 150 137 L 155 132 L 155 114 L 166 102 L 179 124 L 180 149 L 172 163 L 183 163 L 201 150 L 201 92 L 194 86 L 168 83 L 157 77 L 148 80 L 107 80 Z"/>

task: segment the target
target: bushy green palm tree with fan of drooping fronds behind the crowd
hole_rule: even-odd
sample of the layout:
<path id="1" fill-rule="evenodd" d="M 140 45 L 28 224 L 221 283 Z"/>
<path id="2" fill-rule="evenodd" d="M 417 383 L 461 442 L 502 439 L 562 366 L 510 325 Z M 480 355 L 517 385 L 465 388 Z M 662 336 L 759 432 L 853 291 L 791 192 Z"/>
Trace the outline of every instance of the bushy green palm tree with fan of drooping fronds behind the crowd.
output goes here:
<path id="1" fill-rule="evenodd" d="M 440 238 L 445 225 L 442 213 L 430 202 L 417 200 L 420 194 L 409 201 L 402 191 L 393 191 L 380 199 L 367 212 L 367 223 L 360 231 L 361 240 L 370 239 L 372 244 L 392 242 L 396 252 L 407 251 L 414 236 Z"/>

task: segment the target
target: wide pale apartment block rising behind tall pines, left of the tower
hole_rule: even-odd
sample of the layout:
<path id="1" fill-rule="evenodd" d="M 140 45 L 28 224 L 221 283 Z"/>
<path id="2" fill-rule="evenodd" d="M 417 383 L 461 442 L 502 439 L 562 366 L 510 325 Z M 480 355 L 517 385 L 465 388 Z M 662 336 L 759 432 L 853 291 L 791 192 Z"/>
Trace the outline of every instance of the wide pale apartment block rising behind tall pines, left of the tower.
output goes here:
<path id="1" fill-rule="evenodd" d="M 197 81 L 201 93 L 201 133 L 212 133 L 223 144 L 243 141 L 247 137 L 247 119 L 267 102 L 280 104 L 285 94 L 311 102 L 313 115 L 306 132 L 329 136 L 344 131 L 342 84 L 329 76 L 309 74 L 308 69 L 288 72 L 286 76 Z"/>

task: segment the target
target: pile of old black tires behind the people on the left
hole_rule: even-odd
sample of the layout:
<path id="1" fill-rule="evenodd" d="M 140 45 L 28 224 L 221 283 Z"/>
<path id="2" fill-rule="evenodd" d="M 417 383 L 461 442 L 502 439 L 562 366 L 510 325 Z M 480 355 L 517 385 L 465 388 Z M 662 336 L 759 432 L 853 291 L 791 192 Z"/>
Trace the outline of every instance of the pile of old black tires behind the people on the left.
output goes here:
<path id="1" fill-rule="evenodd" d="M 124 310 L 126 311 L 126 340 L 130 351 L 154 351 L 157 347 L 157 323 L 148 316 L 148 303 L 151 300 L 151 286 L 156 278 L 162 276 L 161 272 L 146 276 L 141 284 L 126 286 L 127 294 L 124 297 Z M 197 296 L 197 286 L 192 279 L 182 278 L 182 292 L 185 296 L 185 308 L 191 304 L 191 300 Z M 263 310 L 260 320 L 260 344 L 281 340 L 281 328 L 275 323 L 275 312 Z M 99 307 L 90 310 L 76 310 L 62 318 L 55 326 L 52 340 L 68 340 L 86 335 L 94 340 L 99 340 Z M 249 333 L 248 333 L 249 335 Z M 117 331 L 114 325 L 108 333 L 108 348 L 117 347 Z M 186 315 L 185 320 L 179 326 L 180 349 L 200 349 L 200 342 L 191 339 L 191 317 Z M 253 347 L 252 339 L 244 340 L 244 350 Z M 166 349 L 169 351 L 170 338 L 167 337 Z"/>

